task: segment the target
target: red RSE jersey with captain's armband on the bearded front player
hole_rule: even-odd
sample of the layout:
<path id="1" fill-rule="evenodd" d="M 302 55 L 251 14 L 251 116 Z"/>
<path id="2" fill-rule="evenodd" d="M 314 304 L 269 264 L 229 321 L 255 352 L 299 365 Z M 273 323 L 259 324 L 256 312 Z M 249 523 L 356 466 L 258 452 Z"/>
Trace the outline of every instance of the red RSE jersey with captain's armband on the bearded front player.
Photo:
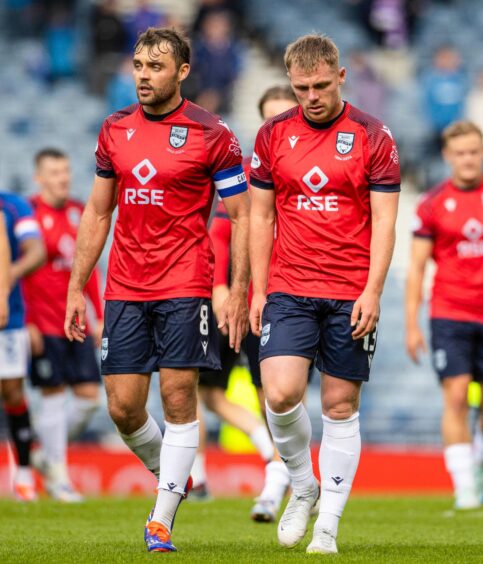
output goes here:
<path id="1" fill-rule="evenodd" d="M 215 188 L 222 198 L 247 189 L 226 123 L 186 100 L 163 116 L 134 104 L 104 121 L 96 157 L 118 192 L 105 299 L 210 297 Z"/>

